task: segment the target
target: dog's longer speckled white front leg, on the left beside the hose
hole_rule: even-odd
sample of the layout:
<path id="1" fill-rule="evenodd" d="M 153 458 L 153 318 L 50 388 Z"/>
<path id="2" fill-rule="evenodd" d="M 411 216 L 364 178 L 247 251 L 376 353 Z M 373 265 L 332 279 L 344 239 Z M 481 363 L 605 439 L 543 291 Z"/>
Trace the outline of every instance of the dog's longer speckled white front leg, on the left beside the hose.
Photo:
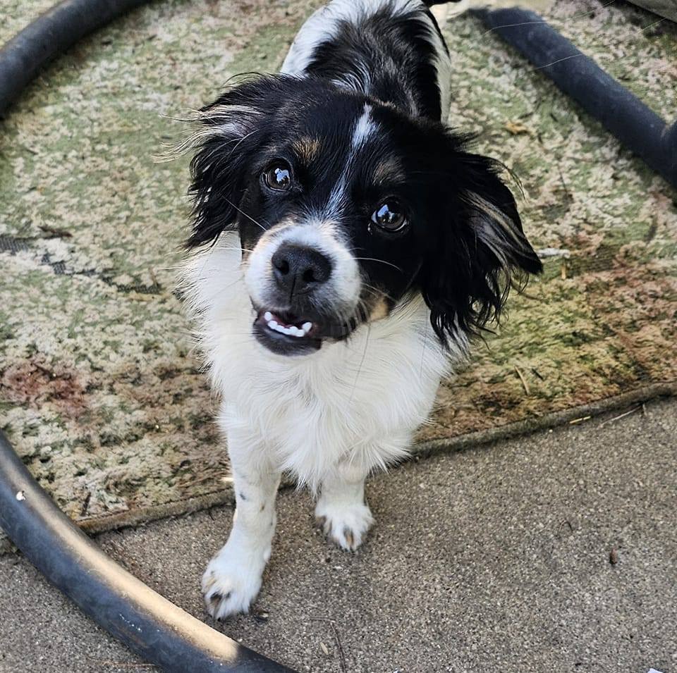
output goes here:
<path id="1" fill-rule="evenodd" d="M 228 431 L 236 497 L 233 529 L 202 576 L 205 605 L 216 619 L 249 610 L 261 588 L 275 532 L 280 475 L 269 461 L 265 446 L 246 435 Z"/>

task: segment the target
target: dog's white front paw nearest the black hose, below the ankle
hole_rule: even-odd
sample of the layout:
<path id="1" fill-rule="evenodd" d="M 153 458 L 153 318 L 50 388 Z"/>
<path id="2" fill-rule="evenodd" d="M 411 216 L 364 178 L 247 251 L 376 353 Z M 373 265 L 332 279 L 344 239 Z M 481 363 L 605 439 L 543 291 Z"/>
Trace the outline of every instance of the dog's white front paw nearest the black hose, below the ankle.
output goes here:
<path id="1" fill-rule="evenodd" d="M 224 619 L 248 612 L 259 593 L 265 554 L 249 554 L 226 544 L 207 565 L 202 575 L 202 593 L 209 615 Z"/>

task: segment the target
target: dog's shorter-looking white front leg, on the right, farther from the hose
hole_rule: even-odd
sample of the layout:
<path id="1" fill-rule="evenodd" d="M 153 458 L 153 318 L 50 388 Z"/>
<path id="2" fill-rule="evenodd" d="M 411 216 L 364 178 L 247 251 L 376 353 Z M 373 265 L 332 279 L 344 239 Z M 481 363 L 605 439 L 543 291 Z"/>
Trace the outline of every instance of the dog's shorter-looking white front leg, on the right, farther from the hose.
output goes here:
<path id="1" fill-rule="evenodd" d="M 374 523 L 365 502 L 367 470 L 340 462 L 322 481 L 315 517 L 339 547 L 354 551 Z"/>

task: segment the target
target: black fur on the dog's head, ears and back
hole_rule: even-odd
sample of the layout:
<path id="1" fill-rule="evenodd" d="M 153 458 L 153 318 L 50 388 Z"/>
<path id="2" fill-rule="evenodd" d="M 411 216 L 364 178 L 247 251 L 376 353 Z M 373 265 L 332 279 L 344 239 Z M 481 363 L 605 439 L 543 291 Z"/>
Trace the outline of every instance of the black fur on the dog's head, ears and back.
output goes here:
<path id="1" fill-rule="evenodd" d="M 334 187 L 346 180 L 348 198 L 332 217 L 360 260 L 365 288 L 390 307 L 420 292 L 444 343 L 458 330 L 477 332 L 497 319 L 511 284 L 542 267 L 499 178 L 501 164 L 469 152 L 468 137 L 439 122 L 433 54 L 423 30 L 429 28 L 407 17 L 385 11 L 360 30 L 343 25 L 333 42 L 315 51 L 306 77 L 248 80 L 202 111 L 205 128 L 215 132 L 191 164 L 195 209 L 187 245 L 214 242 L 238 227 L 243 247 L 252 249 L 284 218 L 322 214 Z M 399 64 L 395 70 L 393 64 Z M 346 72 L 379 74 L 355 90 L 341 85 Z M 349 160 L 365 104 L 377 132 Z M 317 142 L 312 161 L 295 149 L 304 139 Z M 294 186 L 273 193 L 262 173 L 280 159 L 291 166 Z M 383 166 L 399 168 L 377 178 Z M 393 197 L 404 204 L 410 226 L 384 233 L 370 216 Z"/>

